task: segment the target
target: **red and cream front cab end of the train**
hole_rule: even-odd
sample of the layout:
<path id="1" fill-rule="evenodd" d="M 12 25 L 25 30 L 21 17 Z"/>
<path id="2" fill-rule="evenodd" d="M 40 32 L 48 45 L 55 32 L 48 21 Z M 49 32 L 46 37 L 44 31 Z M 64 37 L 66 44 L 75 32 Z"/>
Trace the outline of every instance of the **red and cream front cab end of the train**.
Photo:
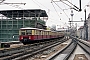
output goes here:
<path id="1" fill-rule="evenodd" d="M 27 28 L 21 28 L 19 30 L 19 40 L 22 43 L 30 43 L 33 40 L 37 39 L 36 38 L 37 35 L 37 28 L 31 28 L 31 27 L 27 27 Z"/>

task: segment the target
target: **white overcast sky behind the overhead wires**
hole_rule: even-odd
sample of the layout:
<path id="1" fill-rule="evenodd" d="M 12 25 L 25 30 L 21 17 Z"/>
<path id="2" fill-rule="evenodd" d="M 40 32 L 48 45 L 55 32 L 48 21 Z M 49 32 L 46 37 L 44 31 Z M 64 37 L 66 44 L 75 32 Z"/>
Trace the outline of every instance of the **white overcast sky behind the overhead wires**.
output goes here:
<path id="1" fill-rule="evenodd" d="M 54 0 L 59 1 L 59 0 Z M 72 2 L 74 5 L 79 7 L 79 0 L 68 0 Z M 46 21 L 47 26 L 51 25 L 60 25 L 63 27 L 69 26 L 69 18 L 71 19 L 71 9 L 67 5 L 65 5 L 62 2 L 52 2 L 51 0 L 5 0 L 4 2 L 8 3 L 26 3 L 26 5 L 6 5 L 1 4 L 0 10 L 11 10 L 11 9 L 42 9 L 45 10 L 48 14 L 48 20 Z M 65 3 L 69 4 L 67 1 L 64 1 Z M 82 18 L 84 18 L 84 9 L 87 10 L 87 16 L 90 12 L 90 7 L 86 7 L 86 5 L 90 5 L 90 0 L 82 0 L 82 11 L 77 12 L 73 10 L 74 16 L 73 20 L 80 21 Z M 70 4 L 69 4 L 70 5 Z M 70 5 L 71 6 L 71 5 Z M 83 23 L 77 23 L 78 26 L 83 25 Z"/>

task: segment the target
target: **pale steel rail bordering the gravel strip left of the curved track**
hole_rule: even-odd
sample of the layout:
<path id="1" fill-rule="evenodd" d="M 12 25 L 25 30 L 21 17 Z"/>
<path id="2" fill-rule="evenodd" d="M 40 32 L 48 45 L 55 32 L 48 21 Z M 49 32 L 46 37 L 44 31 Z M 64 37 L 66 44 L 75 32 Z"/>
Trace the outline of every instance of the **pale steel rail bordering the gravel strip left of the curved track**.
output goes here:
<path id="1" fill-rule="evenodd" d="M 64 41 L 63 41 L 64 42 Z M 22 60 L 22 59 L 26 59 L 26 58 L 30 58 L 31 56 L 33 56 L 33 55 L 36 55 L 36 54 L 38 54 L 39 52 L 42 52 L 42 51 L 45 51 L 45 50 L 47 50 L 47 49 L 49 49 L 49 48 L 52 48 L 52 47 L 54 47 L 54 46 L 56 46 L 56 45 L 59 45 L 59 44 L 61 44 L 62 43 L 62 41 L 58 41 L 57 43 L 56 42 L 54 42 L 54 43 L 52 43 L 52 44 L 49 44 L 48 46 L 44 46 L 43 48 L 40 48 L 40 49 L 38 49 L 38 50 L 35 50 L 35 51 L 33 51 L 32 53 L 29 53 L 29 54 L 25 54 L 25 55 L 23 55 L 23 56 L 19 56 L 19 57 L 17 57 L 17 58 L 14 58 L 15 60 Z"/>

